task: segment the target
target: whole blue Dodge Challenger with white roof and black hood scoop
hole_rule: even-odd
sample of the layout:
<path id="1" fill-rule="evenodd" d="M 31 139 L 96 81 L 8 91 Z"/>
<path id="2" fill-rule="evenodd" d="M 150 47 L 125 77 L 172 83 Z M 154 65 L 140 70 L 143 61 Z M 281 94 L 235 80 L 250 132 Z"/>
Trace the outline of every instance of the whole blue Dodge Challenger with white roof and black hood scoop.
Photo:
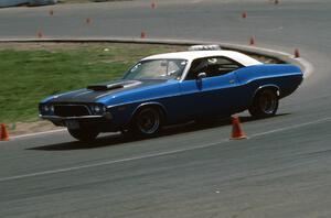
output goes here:
<path id="1" fill-rule="evenodd" d="M 248 110 L 274 116 L 303 79 L 299 67 L 263 64 L 234 51 L 188 51 L 146 57 L 121 79 L 51 96 L 40 117 L 81 141 L 100 132 L 149 137 L 162 126 Z"/>

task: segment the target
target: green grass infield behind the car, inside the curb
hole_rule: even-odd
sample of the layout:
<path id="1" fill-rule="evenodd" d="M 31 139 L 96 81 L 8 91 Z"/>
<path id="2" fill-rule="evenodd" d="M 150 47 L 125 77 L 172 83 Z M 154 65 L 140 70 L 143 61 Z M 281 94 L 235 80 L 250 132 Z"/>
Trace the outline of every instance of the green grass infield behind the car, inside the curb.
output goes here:
<path id="1" fill-rule="evenodd" d="M 0 44 L 0 122 L 36 121 L 43 98 L 116 79 L 141 57 L 174 50 L 178 47 L 139 44 L 42 48 L 1 48 Z"/>

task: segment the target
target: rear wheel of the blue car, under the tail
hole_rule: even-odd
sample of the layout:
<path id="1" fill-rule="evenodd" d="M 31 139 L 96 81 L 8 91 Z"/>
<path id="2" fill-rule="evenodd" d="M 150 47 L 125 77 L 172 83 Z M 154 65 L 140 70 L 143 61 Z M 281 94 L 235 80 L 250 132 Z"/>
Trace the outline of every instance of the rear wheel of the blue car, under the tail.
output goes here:
<path id="1" fill-rule="evenodd" d="M 275 90 L 264 89 L 255 96 L 248 111 L 255 118 L 271 117 L 277 112 L 278 102 L 278 96 Z"/>

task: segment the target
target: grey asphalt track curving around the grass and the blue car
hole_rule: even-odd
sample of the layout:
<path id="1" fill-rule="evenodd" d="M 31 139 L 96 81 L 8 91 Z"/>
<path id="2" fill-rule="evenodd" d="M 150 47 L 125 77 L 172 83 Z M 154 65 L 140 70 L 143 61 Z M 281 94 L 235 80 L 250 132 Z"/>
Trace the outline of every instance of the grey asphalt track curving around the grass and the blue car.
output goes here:
<path id="1" fill-rule="evenodd" d="M 314 65 L 277 117 L 95 144 L 65 132 L 0 143 L 0 217 L 331 217 L 331 1 L 149 1 L 0 11 L 0 37 L 148 36 L 247 44 Z M 247 11 L 247 19 L 241 18 Z M 86 17 L 93 22 L 84 23 Z"/>

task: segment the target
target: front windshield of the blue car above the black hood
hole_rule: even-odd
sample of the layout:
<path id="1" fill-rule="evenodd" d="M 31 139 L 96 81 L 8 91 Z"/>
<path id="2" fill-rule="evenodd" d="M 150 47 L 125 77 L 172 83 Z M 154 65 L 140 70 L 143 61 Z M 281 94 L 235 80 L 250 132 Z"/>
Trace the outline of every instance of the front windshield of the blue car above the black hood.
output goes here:
<path id="1" fill-rule="evenodd" d="M 148 59 L 137 63 L 124 79 L 180 79 L 186 59 Z"/>

